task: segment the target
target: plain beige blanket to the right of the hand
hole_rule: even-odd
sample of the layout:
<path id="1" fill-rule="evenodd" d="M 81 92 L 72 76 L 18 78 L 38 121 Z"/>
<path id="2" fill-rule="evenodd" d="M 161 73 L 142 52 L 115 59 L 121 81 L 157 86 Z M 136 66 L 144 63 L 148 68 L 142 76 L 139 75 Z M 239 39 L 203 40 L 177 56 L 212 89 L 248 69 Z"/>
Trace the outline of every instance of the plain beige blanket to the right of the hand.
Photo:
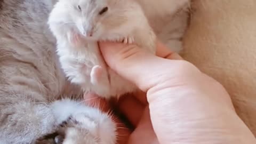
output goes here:
<path id="1" fill-rule="evenodd" d="M 256 1 L 195 0 L 183 57 L 228 90 L 256 135 Z"/>

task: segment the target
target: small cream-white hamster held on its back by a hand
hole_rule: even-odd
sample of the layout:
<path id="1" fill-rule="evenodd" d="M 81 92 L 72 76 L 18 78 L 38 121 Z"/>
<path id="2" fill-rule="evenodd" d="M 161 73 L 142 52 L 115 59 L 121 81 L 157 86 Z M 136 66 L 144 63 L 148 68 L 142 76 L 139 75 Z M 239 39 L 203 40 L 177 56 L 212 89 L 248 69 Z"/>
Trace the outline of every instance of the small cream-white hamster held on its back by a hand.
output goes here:
<path id="1" fill-rule="evenodd" d="M 103 98 L 119 97 L 137 87 L 107 67 L 99 41 L 133 43 L 156 51 L 156 35 L 134 0 L 59 0 L 47 23 L 69 81 Z"/>

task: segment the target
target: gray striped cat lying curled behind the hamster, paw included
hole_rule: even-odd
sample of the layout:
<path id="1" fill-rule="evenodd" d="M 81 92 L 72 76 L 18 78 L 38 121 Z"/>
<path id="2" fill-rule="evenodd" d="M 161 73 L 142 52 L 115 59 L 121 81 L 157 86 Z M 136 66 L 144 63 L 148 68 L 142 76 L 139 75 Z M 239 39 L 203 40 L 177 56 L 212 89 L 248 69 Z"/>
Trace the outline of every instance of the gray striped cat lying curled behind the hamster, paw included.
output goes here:
<path id="1" fill-rule="evenodd" d="M 166 6 L 167 0 L 161 1 Z M 172 6 L 174 0 L 168 1 Z M 54 3 L 53 0 L 0 0 L 0 143 L 36 143 L 37 139 L 57 131 L 67 121 L 69 124 L 72 121 L 67 135 L 70 131 L 79 134 L 84 129 L 92 139 L 114 143 L 115 124 L 111 118 L 75 101 L 82 99 L 81 90 L 67 81 L 59 66 L 55 38 L 46 25 Z M 187 0 L 177 1 L 176 10 L 159 12 L 161 20 L 172 23 L 163 20 L 163 13 L 174 17 L 174 12 L 186 3 Z M 158 28 L 156 32 L 165 44 L 178 45 L 179 50 L 181 42 L 178 39 L 185 32 L 187 22 L 186 12 L 181 15 L 182 18 L 175 21 L 178 28 L 170 27 L 173 34 L 168 33 L 168 27 L 163 23 L 164 33 L 159 32 L 158 24 L 153 26 Z M 152 23 L 155 18 L 156 15 L 152 17 Z M 82 127 L 79 131 L 73 129 L 77 125 Z M 93 126 L 100 127 L 99 131 L 103 133 L 95 134 Z"/>

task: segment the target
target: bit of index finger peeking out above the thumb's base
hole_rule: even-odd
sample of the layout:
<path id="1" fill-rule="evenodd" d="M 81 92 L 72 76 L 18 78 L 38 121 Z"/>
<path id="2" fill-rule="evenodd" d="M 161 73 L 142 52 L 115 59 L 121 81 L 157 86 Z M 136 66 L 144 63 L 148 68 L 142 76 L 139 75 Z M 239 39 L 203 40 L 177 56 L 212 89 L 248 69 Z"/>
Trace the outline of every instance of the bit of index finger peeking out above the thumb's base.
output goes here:
<path id="1" fill-rule="evenodd" d="M 172 52 L 168 47 L 159 41 L 157 41 L 156 47 L 156 55 L 158 57 L 171 60 L 183 60 L 178 53 Z"/>

